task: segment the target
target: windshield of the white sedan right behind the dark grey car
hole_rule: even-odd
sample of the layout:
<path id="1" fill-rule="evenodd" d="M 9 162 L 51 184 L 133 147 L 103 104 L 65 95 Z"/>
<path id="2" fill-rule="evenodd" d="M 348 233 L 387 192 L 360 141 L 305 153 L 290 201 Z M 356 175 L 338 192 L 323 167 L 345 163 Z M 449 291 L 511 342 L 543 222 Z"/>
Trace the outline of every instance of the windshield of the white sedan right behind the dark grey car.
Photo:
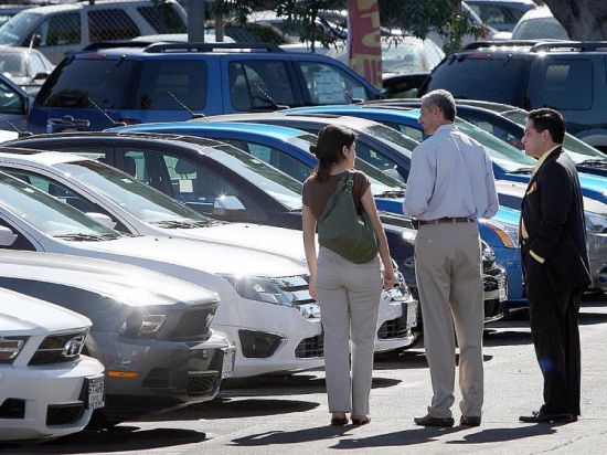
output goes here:
<path id="1" fill-rule="evenodd" d="M 120 234 L 22 180 L 0 173 L 0 204 L 34 229 L 65 240 L 110 240 Z"/>

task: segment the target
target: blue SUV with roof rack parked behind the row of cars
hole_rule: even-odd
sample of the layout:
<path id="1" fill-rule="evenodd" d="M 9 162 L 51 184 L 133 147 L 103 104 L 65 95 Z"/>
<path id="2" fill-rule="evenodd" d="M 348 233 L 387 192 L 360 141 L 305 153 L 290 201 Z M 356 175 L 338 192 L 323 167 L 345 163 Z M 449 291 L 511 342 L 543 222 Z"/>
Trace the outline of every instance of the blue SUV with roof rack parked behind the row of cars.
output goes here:
<path id="1" fill-rule="evenodd" d="M 57 118 L 92 130 L 196 114 L 275 110 L 374 99 L 380 91 L 341 62 L 273 44 L 106 42 L 63 60 L 38 94 L 32 133 Z"/>

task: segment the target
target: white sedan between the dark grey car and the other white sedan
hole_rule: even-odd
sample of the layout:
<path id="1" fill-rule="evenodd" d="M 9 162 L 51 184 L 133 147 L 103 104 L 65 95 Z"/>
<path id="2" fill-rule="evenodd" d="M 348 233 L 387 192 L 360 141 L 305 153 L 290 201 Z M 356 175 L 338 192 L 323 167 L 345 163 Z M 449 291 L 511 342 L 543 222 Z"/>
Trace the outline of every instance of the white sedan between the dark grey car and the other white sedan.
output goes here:
<path id="1" fill-rule="evenodd" d="M 120 234 L 8 174 L 0 194 L 0 247 L 125 262 L 216 292 L 212 327 L 236 346 L 235 377 L 322 366 L 320 314 L 307 304 L 298 261 L 222 242 Z"/>

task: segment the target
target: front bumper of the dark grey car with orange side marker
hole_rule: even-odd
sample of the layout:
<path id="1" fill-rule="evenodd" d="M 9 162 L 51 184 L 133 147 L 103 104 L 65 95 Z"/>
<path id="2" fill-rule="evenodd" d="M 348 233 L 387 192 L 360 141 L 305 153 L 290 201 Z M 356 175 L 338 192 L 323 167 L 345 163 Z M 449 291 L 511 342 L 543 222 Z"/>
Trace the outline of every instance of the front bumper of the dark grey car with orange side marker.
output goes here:
<path id="1" fill-rule="evenodd" d="M 106 366 L 104 414 L 110 419 L 212 400 L 222 377 L 232 375 L 235 348 L 217 334 L 198 343 L 129 339 L 115 332 L 90 336 L 95 357 Z"/>

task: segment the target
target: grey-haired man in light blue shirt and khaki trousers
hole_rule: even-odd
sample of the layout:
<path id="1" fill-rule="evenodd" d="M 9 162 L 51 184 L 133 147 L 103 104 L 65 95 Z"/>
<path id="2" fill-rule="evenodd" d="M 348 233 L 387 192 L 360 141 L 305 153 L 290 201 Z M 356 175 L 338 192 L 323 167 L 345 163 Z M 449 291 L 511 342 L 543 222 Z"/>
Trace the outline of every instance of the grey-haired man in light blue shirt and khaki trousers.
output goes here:
<path id="1" fill-rule="evenodd" d="M 478 426 L 483 398 L 482 265 L 477 220 L 499 208 L 487 150 L 454 124 L 447 91 L 422 98 L 419 123 L 432 137 L 413 152 L 405 213 L 417 219 L 415 267 L 433 399 L 424 426 L 452 426 L 455 332 L 459 346 L 460 423 Z"/>

